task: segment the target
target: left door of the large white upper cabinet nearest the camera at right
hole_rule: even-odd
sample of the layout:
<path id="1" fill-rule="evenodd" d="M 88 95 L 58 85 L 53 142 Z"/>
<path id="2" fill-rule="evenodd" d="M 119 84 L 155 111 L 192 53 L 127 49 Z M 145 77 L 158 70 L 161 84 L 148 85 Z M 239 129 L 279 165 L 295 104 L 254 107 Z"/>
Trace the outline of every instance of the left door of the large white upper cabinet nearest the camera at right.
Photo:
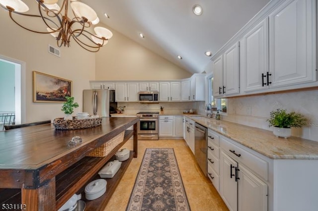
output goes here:
<path id="1" fill-rule="evenodd" d="M 244 92 L 268 89 L 268 18 L 249 31 L 241 42 L 240 61 Z"/>

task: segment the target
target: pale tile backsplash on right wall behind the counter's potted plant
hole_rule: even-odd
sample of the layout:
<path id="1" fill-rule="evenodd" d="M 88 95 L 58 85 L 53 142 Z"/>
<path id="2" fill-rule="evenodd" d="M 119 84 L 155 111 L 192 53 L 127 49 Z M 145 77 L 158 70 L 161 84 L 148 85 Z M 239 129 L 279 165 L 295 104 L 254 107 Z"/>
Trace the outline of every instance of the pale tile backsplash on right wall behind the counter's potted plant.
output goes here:
<path id="1" fill-rule="evenodd" d="M 228 115 L 222 117 L 239 124 L 272 130 L 266 119 L 270 117 L 270 111 L 276 108 L 303 114 L 309 125 L 292 128 L 292 135 L 318 141 L 317 90 L 228 99 Z"/>

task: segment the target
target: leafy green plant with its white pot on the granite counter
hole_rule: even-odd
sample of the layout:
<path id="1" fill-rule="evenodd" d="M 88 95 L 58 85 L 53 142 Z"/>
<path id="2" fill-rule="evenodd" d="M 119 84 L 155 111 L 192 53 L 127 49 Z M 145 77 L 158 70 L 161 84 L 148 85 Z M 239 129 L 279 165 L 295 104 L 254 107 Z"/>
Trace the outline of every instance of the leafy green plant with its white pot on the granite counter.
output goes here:
<path id="1" fill-rule="evenodd" d="M 287 112 L 286 109 L 277 108 L 270 112 L 270 118 L 267 119 L 269 127 L 273 127 L 273 134 L 276 137 L 290 137 L 292 127 L 302 127 L 307 125 L 307 119 L 304 115 L 295 111 Z"/>

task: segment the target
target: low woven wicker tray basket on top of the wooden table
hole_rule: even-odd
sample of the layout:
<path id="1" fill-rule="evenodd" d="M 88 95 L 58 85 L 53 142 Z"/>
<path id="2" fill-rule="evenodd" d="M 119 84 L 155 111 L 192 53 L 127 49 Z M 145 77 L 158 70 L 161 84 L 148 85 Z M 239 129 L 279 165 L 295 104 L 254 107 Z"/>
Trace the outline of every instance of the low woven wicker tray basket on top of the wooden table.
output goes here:
<path id="1" fill-rule="evenodd" d="M 91 119 L 67 119 L 56 118 L 53 125 L 57 130 L 75 130 L 81 128 L 90 128 L 101 125 L 101 117 Z"/>

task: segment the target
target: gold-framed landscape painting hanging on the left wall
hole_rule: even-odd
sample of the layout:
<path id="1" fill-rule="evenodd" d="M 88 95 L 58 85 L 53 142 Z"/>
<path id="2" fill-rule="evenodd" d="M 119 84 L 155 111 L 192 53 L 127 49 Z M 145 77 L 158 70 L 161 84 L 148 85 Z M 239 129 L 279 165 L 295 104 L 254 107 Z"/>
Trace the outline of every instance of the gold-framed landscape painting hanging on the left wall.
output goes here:
<path id="1" fill-rule="evenodd" d="M 64 78 L 33 71 L 33 102 L 64 103 L 73 94 L 73 82 Z"/>

